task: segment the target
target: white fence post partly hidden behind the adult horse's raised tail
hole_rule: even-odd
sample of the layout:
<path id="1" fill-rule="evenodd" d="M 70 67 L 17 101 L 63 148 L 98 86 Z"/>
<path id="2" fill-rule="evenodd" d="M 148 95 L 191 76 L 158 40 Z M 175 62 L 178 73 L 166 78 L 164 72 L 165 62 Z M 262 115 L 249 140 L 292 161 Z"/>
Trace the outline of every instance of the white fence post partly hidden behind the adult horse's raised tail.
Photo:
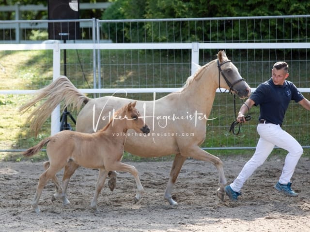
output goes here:
<path id="1" fill-rule="evenodd" d="M 54 42 L 53 48 L 53 81 L 60 77 L 60 58 L 61 49 L 59 47 L 59 41 Z M 51 114 L 50 133 L 56 134 L 60 131 L 60 105 L 53 110 Z"/>

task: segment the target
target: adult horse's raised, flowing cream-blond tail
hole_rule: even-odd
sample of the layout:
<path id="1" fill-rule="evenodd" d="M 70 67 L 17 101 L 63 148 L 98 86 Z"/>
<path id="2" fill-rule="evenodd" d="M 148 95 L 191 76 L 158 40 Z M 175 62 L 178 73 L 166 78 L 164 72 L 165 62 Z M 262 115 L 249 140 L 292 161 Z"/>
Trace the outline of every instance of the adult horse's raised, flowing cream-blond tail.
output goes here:
<path id="1" fill-rule="evenodd" d="M 31 121 L 30 129 L 34 131 L 35 136 L 60 102 L 64 101 L 63 108 L 72 105 L 74 109 L 79 110 L 83 103 L 86 104 L 90 100 L 67 77 L 60 76 L 47 87 L 38 90 L 36 96 L 21 106 L 19 111 L 24 113 L 42 99 L 46 99 L 46 101 L 38 105 L 27 119 L 27 121 Z"/>

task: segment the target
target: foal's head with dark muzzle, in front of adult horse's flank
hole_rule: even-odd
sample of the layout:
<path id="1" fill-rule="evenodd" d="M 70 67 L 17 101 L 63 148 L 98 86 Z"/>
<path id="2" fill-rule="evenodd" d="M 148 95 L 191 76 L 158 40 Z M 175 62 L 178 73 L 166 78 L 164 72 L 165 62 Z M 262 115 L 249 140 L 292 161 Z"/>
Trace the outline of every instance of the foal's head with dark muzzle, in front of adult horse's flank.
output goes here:
<path id="1" fill-rule="evenodd" d="M 145 134 L 148 134 L 150 132 L 150 128 L 148 125 L 144 123 L 144 120 L 142 117 L 140 117 L 139 111 L 135 108 L 137 102 L 130 102 L 127 106 L 125 106 L 126 109 L 126 120 L 128 129 L 133 129 L 137 132 L 143 132 Z"/>

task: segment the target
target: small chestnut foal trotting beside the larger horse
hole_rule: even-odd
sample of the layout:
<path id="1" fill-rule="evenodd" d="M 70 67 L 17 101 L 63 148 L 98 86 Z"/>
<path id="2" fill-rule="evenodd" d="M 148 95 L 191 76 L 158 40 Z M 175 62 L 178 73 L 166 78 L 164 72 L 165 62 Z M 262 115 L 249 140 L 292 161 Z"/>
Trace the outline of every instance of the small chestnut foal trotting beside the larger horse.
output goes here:
<path id="1" fill-rule="evenodd" d="M 36 213 L 40 212 L 38 207 L 42 189 L 49 179 L 52 179 L 58 192 L 56 197 L 61 197 L 63 203 L 66 201 L 65 186 L 61 186 L 56 173 L 60 171 L 68 162 L 73 160 L 76 164 L 86 168 L 99 169 L 98 180 L 91 207 L 97 210 L 97 198 L 109 171 L 119 170 L 129 172 L 135 177 L 137 183 L 137 194 L 135 203 L 140 200 L 143 193 L 138 171 L 134 166 L 121 162 L 124 152 L 124 144 L 127 137 L 127 130 L 133 129 L 138 134 L 147 134 L 150 128 L 144 124 L 139 111 L 135 108 L 136 102 L 126 104 L 115 112 L 109 123 L 100 131 L 93 134 L 75 131 L 61 131 L 57 134 L 42 140 L 39 144 L 29 148 L 23 153 L 30 157 L 37 153 L 47 144 L 48 160 L 44 163 L 46 171 L 40 175 L 37 190 L 35 192 L 32 207 Z M 63 187 L 63 188 L 62 188 Z"/>

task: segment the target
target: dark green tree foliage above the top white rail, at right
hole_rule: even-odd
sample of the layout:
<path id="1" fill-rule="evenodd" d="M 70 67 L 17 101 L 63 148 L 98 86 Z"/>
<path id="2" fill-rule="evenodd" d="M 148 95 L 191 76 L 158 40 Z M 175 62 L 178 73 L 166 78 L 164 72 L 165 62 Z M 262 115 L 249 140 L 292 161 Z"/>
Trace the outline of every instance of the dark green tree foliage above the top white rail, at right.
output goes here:
<path id="1" fill-rule="evenodd" d="M 199 17 L 237 17 L 268 15 L 302 15 L 308 14 L 308 0 L 114 0 L 102 19 L 135 18 L 199 18 Z M 220 23 L 218 25 L 218 23 Z M 179 25 L 176 25 L 179 24 Z M 290 25 L 290 27 L 288 27 Z M 115 35 L 109 38 L 114 42 L 141 42 L 139 35 L 146 35 L 145 42 L 284 42 L 285 38 L 293 41 L 306 38 L 301 31 L 307 24 L 302 20 L 297 24 L 291 19 L 279 21 L 273 19 L 269 25 L 260 19 L 243 21 L 241 25 L 231 20 L 174 23 L 109 23 L 103 26 L 104 34 Z M 175 29 L 178 28 L 176 31 Z M 248 30 L 243 30 L 248 28 Z M 255 29 L 260 29 L 257 33 Z M 210 31 L 218 31 L 211 34 Z M 292 36 L 291 36 L 292 35 Z"/>

